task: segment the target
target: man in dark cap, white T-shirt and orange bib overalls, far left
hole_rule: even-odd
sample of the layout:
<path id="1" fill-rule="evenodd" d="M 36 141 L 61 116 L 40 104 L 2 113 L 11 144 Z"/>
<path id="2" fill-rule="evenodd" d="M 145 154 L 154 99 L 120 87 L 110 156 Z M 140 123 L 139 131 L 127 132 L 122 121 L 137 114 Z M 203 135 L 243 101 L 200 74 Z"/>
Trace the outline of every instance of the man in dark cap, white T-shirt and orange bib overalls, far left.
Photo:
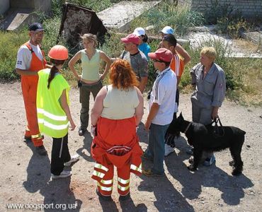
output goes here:
<path id="1" fill-rule="evenodd" d="M 36 111 L 36 93 L 38 88 L 38 71 L 45 69 L 45 55 L 40 49 L 44 29 L 40 23 L 29 26 L 30 40 L 25 42 L 17 53 L 16 73 L 21 75 L 21 87 L 25 103 L 28 125 L 25 129 L 25 140 L 33 141 L 35 150 L 40 155 L 47 155 L 42 136 L 38 128 Z"/>

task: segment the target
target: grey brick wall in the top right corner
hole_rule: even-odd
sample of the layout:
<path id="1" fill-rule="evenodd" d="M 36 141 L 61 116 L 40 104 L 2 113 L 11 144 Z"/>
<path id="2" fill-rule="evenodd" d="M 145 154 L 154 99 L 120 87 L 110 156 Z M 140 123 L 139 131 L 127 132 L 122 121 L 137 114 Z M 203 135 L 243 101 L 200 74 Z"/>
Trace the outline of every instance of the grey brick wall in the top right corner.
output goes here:
<path id="1" fill-rule="evenodd" d="M 234 13 L 240 12 L 243 17 L 262 18 L 262 0 L 178 0 L 178 2 L 188 4 L 193 10 L 204 14 L 210 13 L 212 7 L 217 5 L 217 11 L 232 8 Z"/>

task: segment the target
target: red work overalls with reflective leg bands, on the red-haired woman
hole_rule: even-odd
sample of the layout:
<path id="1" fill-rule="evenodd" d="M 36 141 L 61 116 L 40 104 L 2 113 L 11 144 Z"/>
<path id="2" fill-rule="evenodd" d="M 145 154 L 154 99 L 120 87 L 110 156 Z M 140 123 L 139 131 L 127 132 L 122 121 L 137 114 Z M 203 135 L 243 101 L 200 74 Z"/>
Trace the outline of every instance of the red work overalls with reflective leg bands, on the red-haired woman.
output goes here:
<path id="1" fill-rule="evenodd" d="M 98 182 L 98 192 L 103 196 L 112 194 L 115 166 L 118 193 L 125 196 L 130 192 L 130 172 L 135 175 L 142 173 L 142 149 L 136 134 L 135 117 L 119 120 L 100 117 L 97 132 L 91 154 L 96 160 L 92 178 Z"/>

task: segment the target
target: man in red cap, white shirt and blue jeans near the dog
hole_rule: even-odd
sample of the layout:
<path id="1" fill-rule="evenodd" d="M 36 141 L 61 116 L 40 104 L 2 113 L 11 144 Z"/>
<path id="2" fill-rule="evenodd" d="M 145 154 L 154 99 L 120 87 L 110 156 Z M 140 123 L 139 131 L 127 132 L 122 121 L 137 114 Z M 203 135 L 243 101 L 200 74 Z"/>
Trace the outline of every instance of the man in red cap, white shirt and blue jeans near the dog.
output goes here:
<path id="1" fill-rule="evenodd" d="M 154 81 L 149 98 L 149 114 L 144 128 L 149 131 L 147 150 L 142 158 L 153 161 L 153 167 L 143 170 L 148 177 L 164 176 L 165 134 L 173 119 L 176 101 L 176 75 L 170 69 L 173 54 L 169 49 L 157 49 L 148 54 L 154 61 L 154 68 L 159 75 Z"/>

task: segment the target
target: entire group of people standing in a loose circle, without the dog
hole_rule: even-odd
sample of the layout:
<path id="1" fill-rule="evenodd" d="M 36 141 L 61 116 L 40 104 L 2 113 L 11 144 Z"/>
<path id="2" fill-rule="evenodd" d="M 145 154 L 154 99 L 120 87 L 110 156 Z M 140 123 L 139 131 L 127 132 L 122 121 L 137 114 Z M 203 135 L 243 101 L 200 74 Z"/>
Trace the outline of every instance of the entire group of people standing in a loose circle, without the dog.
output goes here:
<path id="1" fill-rule="evenodd" d="M 97 49 L 95 35 L 84 34 L 81 36 L 84 49 L 69 61 L 69 69 L 79 81 L 79 136 L 86 133 L 89 124 L 90 93 L 95 100 L 91 110 L 91 155 L 96 160 L 92 178 L 97 181 L 98 196 L 106 200 L 111 199 L 114 166 L 118 172 L 120 200 L 125 200 L 130 197 L 130 172 L 163 176 L 164 156 L 174 151 L 175 136 L 169 126 L 176 119 L 178 83 L 190 56 L 177 44 L 171 27 L 166 26 L 159 33 L 162 35 L 159 49 L 151 52 L 144 28 L 136 28 L 121 38 L 124 51 L 118 59 L 110 59 Z M 74 130 L 76 124 L 69 109 L 69 84 L 61 72 L 68 50 L 55 45 L 48 53 L 50 64 L 47 64 L 40 49 L 43 34 L 40 23 L 30 25 L 30 40 L 18 50 L 16 72 L 21 75 L 28 121 L 25 139 L 33 141 L 40 155 L 47 155 L 42 134 L 52 137 L 51 177 L 57 179 L 72 175 L 64 166 L 79 160 L 77 155 L 71 156 L 68 149 L 68 129 Z M 217 117 L 224 100 L 225 77 L 224 71 L 214 63 L 214 48 L 204 48 L 200 56 L 200 64 L 190 71 L 196 88 L 191 97 L 193 122 L 208 124 Z M 148 96 L 149 114 L 144 129 L 149 131 L 149 145 L 143 152 L 137 128 L 144 114 L 142 93 L 147 86 L 149 59 L 154 62 L 158 75 Z M 81 74 L 75 69 L 79 60 Z M 106 62 L 102 74 L 99 73 L 101 61 Z M 103 86 L 108 72 L 110 84 Z M 207 154 L 205 159 L 210 157 L 213 155 Z M 152 160 L 152 168 L 142 169 L 141 158 Z"/>

